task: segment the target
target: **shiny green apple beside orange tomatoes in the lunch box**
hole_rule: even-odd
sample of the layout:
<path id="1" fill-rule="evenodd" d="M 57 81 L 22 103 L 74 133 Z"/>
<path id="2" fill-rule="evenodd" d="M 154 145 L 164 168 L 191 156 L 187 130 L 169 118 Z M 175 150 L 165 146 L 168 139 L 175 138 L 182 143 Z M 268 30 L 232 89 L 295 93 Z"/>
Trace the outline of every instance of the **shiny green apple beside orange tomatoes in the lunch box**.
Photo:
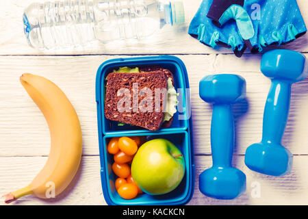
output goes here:
<path id="1" fill-rule="evenodd" d="M 131 163 L 131 176 L 147 194 L 171 192 L 184 177 L 185 161 L 175 144 L 159 138 L 140 146 Z"/>

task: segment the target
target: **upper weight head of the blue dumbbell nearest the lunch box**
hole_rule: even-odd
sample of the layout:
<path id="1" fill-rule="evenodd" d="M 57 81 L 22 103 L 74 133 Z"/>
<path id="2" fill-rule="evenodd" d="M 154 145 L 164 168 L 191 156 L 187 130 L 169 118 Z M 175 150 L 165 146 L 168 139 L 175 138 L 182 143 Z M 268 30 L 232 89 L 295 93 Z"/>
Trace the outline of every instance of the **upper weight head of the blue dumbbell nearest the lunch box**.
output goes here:
<path id="1" fill-rule="evenodd" d="M 199 95 L 207 103 L 235 103 L 246 96 L 246 82 L 238 75 L 208 75 L 199 83 Z"/>

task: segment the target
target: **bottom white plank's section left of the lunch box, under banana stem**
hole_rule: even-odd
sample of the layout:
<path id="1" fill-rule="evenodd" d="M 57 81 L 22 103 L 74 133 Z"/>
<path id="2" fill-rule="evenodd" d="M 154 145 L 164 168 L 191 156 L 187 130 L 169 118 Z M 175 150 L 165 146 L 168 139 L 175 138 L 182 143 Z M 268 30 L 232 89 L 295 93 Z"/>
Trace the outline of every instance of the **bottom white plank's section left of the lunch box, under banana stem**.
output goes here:
<path id="1" fill-rule="evenodd" d="M 47 157 L 1 157 L 0 196 L 28 185 Z M 12 205 L 105 205 L 98 156 L 82 157 L 81 166 L 68 188 L 54 199 L 25 196 Z M 1 198 L 0 205 L 5 205 Z"/>

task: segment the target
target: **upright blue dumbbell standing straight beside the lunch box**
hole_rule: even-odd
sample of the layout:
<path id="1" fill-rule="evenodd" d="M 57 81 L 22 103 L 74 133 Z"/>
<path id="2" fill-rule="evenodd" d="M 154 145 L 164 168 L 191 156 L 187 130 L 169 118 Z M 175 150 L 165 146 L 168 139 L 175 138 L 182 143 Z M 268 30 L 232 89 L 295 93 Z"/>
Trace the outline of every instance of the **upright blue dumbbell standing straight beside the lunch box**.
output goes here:
<path id="1" fill-rule="evenodd" d="M 213 104 L 213 166 L 199 176 L 199 190 L 212 198 L 236 198 L 246 190 L 246 176 L 231 164 L 234 145 L 232 104 L 245 98 L 246 81 L 238 75 L 209 75 L 200 81 L 199 95 L 203 101 Z"/>

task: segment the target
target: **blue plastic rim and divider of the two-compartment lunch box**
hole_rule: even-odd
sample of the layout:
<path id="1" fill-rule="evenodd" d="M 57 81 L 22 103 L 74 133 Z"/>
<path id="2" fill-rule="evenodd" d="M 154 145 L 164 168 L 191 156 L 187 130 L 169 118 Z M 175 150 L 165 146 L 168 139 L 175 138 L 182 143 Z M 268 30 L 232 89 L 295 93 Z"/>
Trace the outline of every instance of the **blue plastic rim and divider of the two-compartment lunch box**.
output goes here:
<path id="1" fill-rule="evenodd" d="M 101 183 L 103 188 L 103 195 L 105 197 L 105 201 L 108 205 L 117 205 L 117 203 L 114 203 L 112 201 L 112 198 L 109 195 L 108 186 L 107 183 L 109 183 L 109 179 L 107 179 L 105 171 L 107 171 L 107 168 L 104 168 L 105 166 L 105 160 L 107 157 L 105 157 L 105 153 L 103 151 L 104 148 L 104 136 L 112 136 L 112 133 L 110 134 L 104 134 L 103 133 L 103 122 L 105 121 L 104 114 L 103 114 L 103 88 L 104 88 L 104 81 L 105 81 L 105 73 L 107 70 L 110 70 L 111 68 L 118 68 L 123 66 L 150 66 L 150 65 L 157 65 L 159 62 L 163 63 L 170 63 L 170 64 L 177 64 L 179 66 L 179 69 L 181 71 L 182 77 L 183 77 L 183 86 L 184 88 L 189 88 L 189 81 L 188 81 L 188 74 L 187 70 L 185 68 L 185 65 L 183 62 L 175 56 L 172 55 L 158 55 L 158 56 L 144 56 L 144 57 L 128 57 L 128 58 L 116 58 L 112 60 L 107 60 L 99 66 L 97 70 L 97 77 L 96 77 L 96 102 L 97 102 L 97 124 L 98 124 L 98 133 L 99 133 L 99 155 L 100 155 L 100 161 L 101 161 Z M 185 126 L 185 131 L 187 131 L 187 134 L 189 136 L 190 141 L 190 164 L 189 169 L 187 171 L 190 171 L 190 179 L 189 179 L 189 190 L 187 196 L 185 196 L 181 201 L 177 202 L 167 202 L 166 203 L 159 203 L 159 205 L 185 205 L 190 201 L 192 198 L 192 195 L 194 193 L 194 146 L 193 146 L 193 137 L 192 137 L 192 116 L 190 113 L 190 118 L 187 120 L 187 126 Z M 177 130 L 170 131 L 171 133 L 176 133 Z M 184 130 L 178 130 L 178 131 L 184 131 Z M 147 130 L 140 130 L 136 131 L 136 134 L 143 134 L 144 133 L 151 133 Z M 155 133 L 168 133 L 168 129 L 164 129 L 163 131 L 155 131 Z M 117 136 L 125 136 L 125 132 L 122 133 L 114 133 Z M 132 133 L 129 133 L 129 135 L 132 135 Z M 150 134 L 149 134 L 150 135 Z M 129 203 L 127 203 L 129 205 Z M 142 203 L 140 203 L 142 205 Z M 151 205 L 151 203 L 149 204 Z M 153 205 L 157 205 L 157 203 L 153 203 Z"/>

